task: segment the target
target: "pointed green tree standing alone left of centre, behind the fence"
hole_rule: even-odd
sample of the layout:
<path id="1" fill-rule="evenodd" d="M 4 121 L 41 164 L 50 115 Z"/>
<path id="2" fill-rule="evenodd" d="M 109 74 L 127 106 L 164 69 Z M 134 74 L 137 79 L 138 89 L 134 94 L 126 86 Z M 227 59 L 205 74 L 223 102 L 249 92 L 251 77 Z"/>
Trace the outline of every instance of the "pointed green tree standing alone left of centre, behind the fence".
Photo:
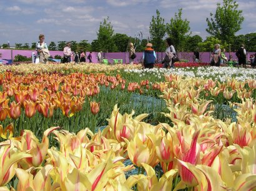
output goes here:
<path id="1" fill-rule="evenodd" d="M 112 39 L 114 35 L 114 29 L 111 26 L 109 17 L 104 19 L 99 26 L 99 32 L 97 32 L 97 50 L 102 50 L 104 52 L 115 52 L 117 50 L 114 40 Z"/>

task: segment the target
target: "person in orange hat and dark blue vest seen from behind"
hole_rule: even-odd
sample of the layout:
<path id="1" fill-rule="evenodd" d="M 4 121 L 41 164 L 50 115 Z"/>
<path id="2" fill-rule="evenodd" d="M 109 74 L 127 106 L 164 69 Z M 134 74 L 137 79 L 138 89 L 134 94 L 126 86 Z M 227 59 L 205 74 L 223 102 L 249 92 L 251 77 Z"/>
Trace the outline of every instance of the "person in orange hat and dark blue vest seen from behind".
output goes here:
<path id="1" fill-rule="evenodd" d="M 152 49 L 151 43 L 148 43 L 146 46 L 147 47 L 145 48 L 145 50 L 143 52 L 143 57 L 142 57 L 142 59 L 144 60 L 143 61 L 144 67 L 145 68 L 154 68 L 155 58 L 156 58 L 155 50 Z"/>

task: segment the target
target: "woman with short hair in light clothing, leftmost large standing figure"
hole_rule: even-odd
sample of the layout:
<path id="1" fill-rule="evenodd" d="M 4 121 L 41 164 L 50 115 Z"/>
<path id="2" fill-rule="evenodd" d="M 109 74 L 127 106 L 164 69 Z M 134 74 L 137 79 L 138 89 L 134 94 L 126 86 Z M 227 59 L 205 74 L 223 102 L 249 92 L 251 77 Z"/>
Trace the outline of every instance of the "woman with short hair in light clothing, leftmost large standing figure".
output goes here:
<path id="1" fill-rule="evenodd" d="M 39 35 L 39 42 L 36 44 L 37 57 L 39 57 L 39 62 L 47 63 L 50 53 L 47 47 L 46 42 L 44 42 L 44 35 Z"/>

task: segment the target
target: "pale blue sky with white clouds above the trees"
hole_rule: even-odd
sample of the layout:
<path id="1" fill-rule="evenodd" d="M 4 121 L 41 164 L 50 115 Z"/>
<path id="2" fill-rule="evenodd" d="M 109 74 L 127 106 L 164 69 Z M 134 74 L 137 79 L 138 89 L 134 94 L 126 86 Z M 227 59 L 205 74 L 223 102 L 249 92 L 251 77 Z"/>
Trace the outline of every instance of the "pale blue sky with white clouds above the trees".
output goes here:
<path id="1" fill-rule="evenodd" d="M 182 8 L 182 19 L 190 22 L 192 35 L 203 39 L 210 12 L 215 13 L 217 2 L 222 0 L 0 0 L 0 45 L 38 41 L 45 42 L 97 39 L 100 23 L 109 16 L 114 32 L 134 37 L 142 32 L 149 36 L 149 25 L 156 9 L 166 22 Z M 256 1 L 238 0 L 244 22 L 237 34 L 256 32 Z"/>

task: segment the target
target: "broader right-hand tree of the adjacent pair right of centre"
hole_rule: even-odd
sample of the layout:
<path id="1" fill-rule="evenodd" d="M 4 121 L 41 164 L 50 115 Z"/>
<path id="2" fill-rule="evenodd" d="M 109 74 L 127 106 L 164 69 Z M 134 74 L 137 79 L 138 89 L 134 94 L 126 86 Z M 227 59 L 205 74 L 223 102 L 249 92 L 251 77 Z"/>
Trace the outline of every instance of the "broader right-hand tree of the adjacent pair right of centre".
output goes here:
<path id="1" fill-rule="evenodd" d="M 182 9 L 179 9 L 179 13 L 175 12 L 174 18 L 170 19 L 170 24 L 166 24 L 166 32 L 172 40 L 177 50 L 182 50 L 185 45 L 185 38 L 190 35 L 189 21 L 187 19 L 182 20 Z"/>

